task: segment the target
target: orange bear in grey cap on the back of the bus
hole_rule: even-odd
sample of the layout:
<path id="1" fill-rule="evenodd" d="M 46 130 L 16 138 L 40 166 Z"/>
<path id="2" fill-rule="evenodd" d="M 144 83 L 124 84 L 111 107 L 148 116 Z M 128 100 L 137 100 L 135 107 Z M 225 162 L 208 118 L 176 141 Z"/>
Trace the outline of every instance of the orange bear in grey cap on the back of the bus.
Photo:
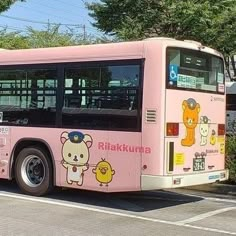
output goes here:
<path id="1" fill-rule="evenodd" d="M 198 124 L 200 105 L 193 98 L 184 100 L 183 108 L 183 123 L 186 128 L 185 138 L 181 140 L 182 146 L 191 147 L 195 144 L 195 128 Z"/>

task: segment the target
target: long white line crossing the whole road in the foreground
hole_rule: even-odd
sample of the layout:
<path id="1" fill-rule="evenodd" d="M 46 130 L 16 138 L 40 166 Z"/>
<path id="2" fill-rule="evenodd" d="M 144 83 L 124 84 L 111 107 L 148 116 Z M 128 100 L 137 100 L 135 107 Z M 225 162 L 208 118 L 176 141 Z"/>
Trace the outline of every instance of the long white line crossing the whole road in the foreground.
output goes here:
<path id="1" fill-rule="evenodd" d="M 183 224 L 183 223 L 179 223 L 179 222 L 159 220 L 159 219 L 155 219 L 155 218 L 144 217 L 144 216 L 139 216 L 139 215 L 134 215 L 134 214 L 126 214 L 126 213 L 121 213 L 121 212 L 116 212 L 116 211 L 103 210 L 103 209 L 98 209 L 98 208 L 93 208 L 93 207 L 87 207 L 85 204 L 72 204 L 72 203 L 67 203 L 65 201 L 58 201 L 58 200 L 54 200 L 54 199 L 50 200 L 50 199 L 45 199 L 45 198 L 23 196 L 20 194 L 9 194 L 9 193 L 3 192 L 3 191 L 0 192 L 0 196 L 14 198 L 14 199 L 20 199 L 20 200 L 26 200 L 26 201 L 31 201 L 31 202 L 40 202 L 40 203 L 44 203 L 44 204 L 56 205 L 56 206 L 61 206 L 61 207 L 76 208 L 76 209 L 81 209 L 81 210 L 97 212 L 97 213 L 103 213 L 103 214 L 108 214 L 108 215 L 144 220 L 144 221 L 155 222 L 155 223 L 174 225 L 174 226 L 179 226 L 179 227 L 199 229 L 199 230 L 210 231 L 210 232 L 215 232 L 215 233 L 236 235 L 236 232 L 230 232 L 230 231 L 219 230 L 219 229 L 214 229 L 214 228 L 207 228 L 207 227 L 200 227 L 200 226 L 193 226 L 193 225 Z"/>

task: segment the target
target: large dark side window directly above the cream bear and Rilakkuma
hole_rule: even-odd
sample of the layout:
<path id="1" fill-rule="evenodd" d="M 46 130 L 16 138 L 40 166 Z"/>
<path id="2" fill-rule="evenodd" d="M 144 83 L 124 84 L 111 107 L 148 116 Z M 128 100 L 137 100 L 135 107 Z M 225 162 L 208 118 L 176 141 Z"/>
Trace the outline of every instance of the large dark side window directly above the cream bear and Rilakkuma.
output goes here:
<path id="1" fill-rule="evenodd" d="M 139 64 L 65 68 L 63 127 L 137 130 L 139 80 Z"/>

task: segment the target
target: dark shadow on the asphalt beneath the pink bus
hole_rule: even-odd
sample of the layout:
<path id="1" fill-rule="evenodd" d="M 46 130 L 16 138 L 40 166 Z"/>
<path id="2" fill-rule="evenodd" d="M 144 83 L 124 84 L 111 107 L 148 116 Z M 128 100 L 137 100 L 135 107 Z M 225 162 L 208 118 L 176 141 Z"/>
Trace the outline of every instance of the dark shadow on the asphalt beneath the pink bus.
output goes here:
<path id="1" fill-rule="evenodd" d="M 15 181 L 0 180 L 0 192 L 21 194 Z M 201 197 L 187 196 L 168 191 L 144 191 L 125 193 L 102 193 L 77 189 L 55 188 L 43 199 L 63 201 L 64 203 L 85 204 L 90 207 L 106 207 L 110 209 L 145 212 L 161 208 L 197 202 Z"/>

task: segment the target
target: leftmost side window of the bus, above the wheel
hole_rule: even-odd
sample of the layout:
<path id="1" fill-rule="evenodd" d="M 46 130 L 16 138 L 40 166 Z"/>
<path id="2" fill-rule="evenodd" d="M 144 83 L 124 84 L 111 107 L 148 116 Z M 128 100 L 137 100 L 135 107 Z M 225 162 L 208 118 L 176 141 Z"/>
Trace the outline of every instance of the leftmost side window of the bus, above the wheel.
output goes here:
<path id="1" fill-rule="evenodd" d="M 1 70 L 0 84 L 2 123 L 55 126 L 56 70 Z"/>

